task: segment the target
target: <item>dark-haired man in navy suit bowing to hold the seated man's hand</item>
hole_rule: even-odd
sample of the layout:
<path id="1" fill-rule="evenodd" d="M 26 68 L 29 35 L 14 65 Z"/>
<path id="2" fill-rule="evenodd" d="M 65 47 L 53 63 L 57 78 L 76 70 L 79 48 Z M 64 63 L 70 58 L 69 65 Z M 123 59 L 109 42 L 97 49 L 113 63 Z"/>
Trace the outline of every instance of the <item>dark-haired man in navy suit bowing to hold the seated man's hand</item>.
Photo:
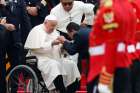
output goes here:
<path id="1" fill-rule="evenodd" d="M 81 71 L 81 61 L 83 59 L 88 60 L 88 36 L 90 29 L 89 28 L 80 28 L 80 26 L 74 22 L 70 22 L 67 26 L 67 31 L 69 37 L 74 42 L 69 42 L 63 36 L 59 40 L 63 43 L 63 48 L 70 54 L 74 55 L 79 53 L 78 57 L 78 68 Z"/>

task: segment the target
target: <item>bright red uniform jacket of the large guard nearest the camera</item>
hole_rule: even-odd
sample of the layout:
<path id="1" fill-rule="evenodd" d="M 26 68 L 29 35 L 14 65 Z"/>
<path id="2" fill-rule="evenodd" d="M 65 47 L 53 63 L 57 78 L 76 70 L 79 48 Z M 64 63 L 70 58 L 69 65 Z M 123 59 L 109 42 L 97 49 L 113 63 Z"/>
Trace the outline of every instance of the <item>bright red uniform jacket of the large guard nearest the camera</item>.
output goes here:
<path id="1" fill-rule="evenodd" d="M 93 31 L 90 33 L 90 48 L 105 43 L 104 55 L 90 55 L 88 82 L 99 75 L 103 65 L 113 72 L 115 67 L 127 67 L 130 60 L 126 52 L 116 53 L 119 42 L 127 43 L 135 30 L 136 17 L 127 0 L 106 0 L 97 12 Z M 109 49 L 111 48 L 111 49 Z M 114 54 L 112 54 L 114 53 Z M 111 57 L 113 56 L 112 59 Z M 116 57 L 117 56 L 117 57 Z M 112 63 L 112 60 L 117 60 Z"/>

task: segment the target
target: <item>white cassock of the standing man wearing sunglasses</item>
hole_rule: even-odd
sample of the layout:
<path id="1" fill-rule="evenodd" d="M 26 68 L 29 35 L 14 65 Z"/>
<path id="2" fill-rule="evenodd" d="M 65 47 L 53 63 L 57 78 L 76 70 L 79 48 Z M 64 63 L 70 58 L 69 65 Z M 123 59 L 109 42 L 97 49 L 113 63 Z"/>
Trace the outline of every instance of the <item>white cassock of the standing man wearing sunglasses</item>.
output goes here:
<path id="1" fill-rule="evenodd" d="M 59 3 L 56 7 L 54 7 L 51 10 L 50 14 L 55 15 L 58 19 L 57 29 L 64 33 L 67 33 L 66 26 L 70 22 L 75 22 L 80 25 L 83 14 L 85 14 L 87 17 L 86 21 L 88 25 L 92 25 L 92 20 L 94 17 L 93 8 L 93 4 L 83 3 L 81 1 L 74 1 L 72 9 L 69 12 L 66 12 L 63 9 L 62 4 Z"/>

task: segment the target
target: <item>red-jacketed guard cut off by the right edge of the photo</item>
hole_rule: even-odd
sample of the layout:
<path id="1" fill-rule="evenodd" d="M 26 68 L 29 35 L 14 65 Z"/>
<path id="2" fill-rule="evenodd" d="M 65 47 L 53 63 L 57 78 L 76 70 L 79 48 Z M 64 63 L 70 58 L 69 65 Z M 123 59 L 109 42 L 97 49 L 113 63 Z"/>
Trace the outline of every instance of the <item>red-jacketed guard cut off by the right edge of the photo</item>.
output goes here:
<path id="1" fill-rule="evenodd" d="M 136 14 L 136 31 L 134 32 L 134 43 L 136 44 L 137 56 L 132 59 L 131 73 L 132 73 L 132 93 L 139 93 L 140 91 L 140 0 L 129 0 L 133 6 Z M 136 53 L 133 53 L 136 55 Z"/>

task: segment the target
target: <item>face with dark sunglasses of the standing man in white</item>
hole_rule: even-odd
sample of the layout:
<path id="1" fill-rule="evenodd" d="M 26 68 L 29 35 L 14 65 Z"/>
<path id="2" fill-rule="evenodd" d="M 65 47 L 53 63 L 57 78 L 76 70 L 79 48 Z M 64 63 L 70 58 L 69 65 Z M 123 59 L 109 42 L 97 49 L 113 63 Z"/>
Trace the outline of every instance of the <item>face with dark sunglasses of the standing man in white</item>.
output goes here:
<path id="1" fill-rule="evenodd" d="M 73 7 L 74 0 L 60 0 L 65 11 L 69 12 Z"/>

